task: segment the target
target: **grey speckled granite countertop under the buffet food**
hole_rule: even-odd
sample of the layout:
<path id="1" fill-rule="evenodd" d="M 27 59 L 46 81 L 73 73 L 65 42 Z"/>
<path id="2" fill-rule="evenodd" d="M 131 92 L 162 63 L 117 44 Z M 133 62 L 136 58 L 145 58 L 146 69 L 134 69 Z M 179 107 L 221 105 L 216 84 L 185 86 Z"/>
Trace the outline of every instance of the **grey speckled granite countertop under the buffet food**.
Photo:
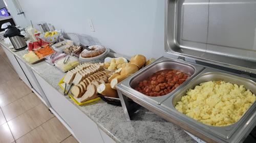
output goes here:
<path id="1" fill-rule="evenodd" d="M 10 45 L 4 43 L 3 40 L 0 40 L 0 44 L 24 61 L 22 56 L 28 52 L 27 50 L 13 52 L 8 48 Z M 45 61 L 34 65 L 24 62 L 62 94 L 63 91 L 59 88 L 58 82 L 65 73 Z M 74 104 L 69 97 L 66 98 Z M 92 119 L 116 142 L 196 142 L 180 127 L 165 121 L 143 107 L 136 112 L 133 121 L 126 121 L 121 106 L 110 105 L 103 100 L 82 106 L 74 104 L 74 106 Z"/>

